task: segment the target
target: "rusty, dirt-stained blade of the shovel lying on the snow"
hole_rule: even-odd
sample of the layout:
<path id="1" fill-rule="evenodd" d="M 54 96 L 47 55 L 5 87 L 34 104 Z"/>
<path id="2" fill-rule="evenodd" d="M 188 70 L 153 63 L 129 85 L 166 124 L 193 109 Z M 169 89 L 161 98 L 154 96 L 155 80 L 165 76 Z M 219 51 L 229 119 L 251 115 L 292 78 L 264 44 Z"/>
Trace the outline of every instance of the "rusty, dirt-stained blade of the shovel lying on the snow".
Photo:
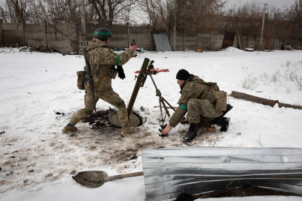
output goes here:
<path id="1" fill-rule="evenodd" d="M 72 176 L 73 179 L 88 188 L 98 188 L 102 186 L 106 181 L 105 177 L 107 177 L 107 173 L 104 171 L 81 171 L 78 172 L 75 176 Z"/>

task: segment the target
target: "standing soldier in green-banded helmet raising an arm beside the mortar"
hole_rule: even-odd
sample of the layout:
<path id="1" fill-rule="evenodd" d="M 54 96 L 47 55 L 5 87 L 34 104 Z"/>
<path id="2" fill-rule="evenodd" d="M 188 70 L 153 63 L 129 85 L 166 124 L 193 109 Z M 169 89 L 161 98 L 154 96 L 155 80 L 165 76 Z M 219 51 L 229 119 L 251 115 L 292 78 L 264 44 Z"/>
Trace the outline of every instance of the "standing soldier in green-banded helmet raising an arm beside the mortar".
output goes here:
<path id="1" fill-rule="evenodd" d="M 94 102 L 96 103 L 99 99 L 102 99 L 113 106 L 116 106 L 118 119 L 123 127 L 121 135 L 124 136 L 125 134 L 134 133 L 134 129 L 130 128 L 125 103 L 111 87 L 111 79 L 113 78 L 112 70 L 115 70 L 115 68 L 110 67 L 117 65 L 118 77 L 121 79 L 125 78 L 125 74 L 121 66 L 136 55 L 135 51 L 137 49 L 137 45 L 130 45 L 129 50 L 125 50 L 123 53 L 118 55 L 113 53 L 109 47 L 109 38 L 112 36 L 112 33 L 108 29 L 99 28 L 94 32 L 93 36 L 92 41 L 89 43 L 91 50 L 87 52 L 87 59 L 90 65 L 91 77 L 93 80 Z M 98 85 L 100 79 L 102 80 Z M 85 82 L 84 102 L 85 108 L 74 113 L 69 124 L 63 128 L 63 133 L 76 131 L 77 128 L 75 125 L 87 115 L 92 113 L 94 103 L 92 100 L 89 82 Z"/>

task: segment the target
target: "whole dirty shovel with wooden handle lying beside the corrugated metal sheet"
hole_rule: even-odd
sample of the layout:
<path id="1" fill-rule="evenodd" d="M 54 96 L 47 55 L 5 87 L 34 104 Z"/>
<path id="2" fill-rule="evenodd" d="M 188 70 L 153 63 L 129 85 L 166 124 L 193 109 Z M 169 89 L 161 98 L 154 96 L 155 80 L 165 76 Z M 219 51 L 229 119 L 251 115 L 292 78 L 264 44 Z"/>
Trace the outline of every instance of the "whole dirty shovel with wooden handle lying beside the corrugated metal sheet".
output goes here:
<path id="1" fill-rule="evenodd" d="M 70 174 L 72 174 L 72 178 L 77 183 L 86 186 L 88 188 L 98 188 L 102 186 L 104 183 L 106 183 L 107 181 L 144 175 L 143 171 L 140 171 L 140 172 L 108 176 L 106 172 L 100 170 L 80 171 L 77 174 L 76 171 L 74 170 Z"/>

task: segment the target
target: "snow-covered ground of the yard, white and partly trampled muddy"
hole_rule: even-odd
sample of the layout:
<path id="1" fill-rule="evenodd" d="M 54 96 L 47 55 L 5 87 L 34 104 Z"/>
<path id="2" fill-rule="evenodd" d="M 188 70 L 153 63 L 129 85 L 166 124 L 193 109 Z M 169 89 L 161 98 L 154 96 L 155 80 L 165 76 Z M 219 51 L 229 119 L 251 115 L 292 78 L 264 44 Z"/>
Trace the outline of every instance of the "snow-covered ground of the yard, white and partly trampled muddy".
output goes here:
<path id="1" fill-rule="evenodd" d="M 217 82 L 228 94 L 238 91 L 302 105 L 302 51 L 244 52 L 227 48 L 220 52 L 142 53 L 124 65 L 126 79 L 113 80 L 113 90 L 126 104 L 136 82 L 134 71 L 140 69 L 145 57 L 154 60 L 155 67 L 170 70 L 153 78 L 162 96 L 175 106 L 180 96 L 175 76 L 181 68 L 205 81 Z M 181 140 L 188 125 L 178 125 L 165 138 L 158 136 L 160 112 L 154 108 L 158 99 L 150 78 L 140 89 L 134 104 L 138 111 L 143 106 L 141 115 L 145 121 L 136 134 L 121 138 L 119 130 L 90 130 L 87 123 L 77 125 L 75 136 L 62 134 L 61 129 L 71 115 L 84 105 L 84 92 L 76 87 L 76 71 L 83 66 L 84 59 L 78 55 L 0 48 L 1 201 L 143 201 L 143 176 L 87 189 L 72 180 L 69 173 L 73 169 L 105 170 L 109 175 L 134 172 L 142 170 L 141 150 L 144 148 L 187 146 Z M 199 131 L 190 145 L 302 147 L 302 110 L 279 108 L 277 104 L 270 107 L 231 97 L 228 101 L 234 106 L 227 113 L 231 118 L 229 130 L 215 134 Z M 102 100 L 97 103 L 98 109 L 109 106 Z M 119 158 L 124 153 L 132 153 L 133 149 L 137 159 Z M 244 200 L 284 199 L 270 196 Z M 301 198 L 287 199 L 298 201 Z M 208 200 L 228 201 L 230 198 Z"/>

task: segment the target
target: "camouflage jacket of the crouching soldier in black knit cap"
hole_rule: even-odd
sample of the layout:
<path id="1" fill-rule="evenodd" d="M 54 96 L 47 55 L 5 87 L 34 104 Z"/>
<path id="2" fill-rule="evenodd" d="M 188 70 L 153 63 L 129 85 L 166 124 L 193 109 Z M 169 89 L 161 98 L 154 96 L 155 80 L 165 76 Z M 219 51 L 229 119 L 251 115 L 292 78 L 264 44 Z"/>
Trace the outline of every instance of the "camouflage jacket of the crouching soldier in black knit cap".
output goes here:
<path id="1" fill-rule="evenodd" d="M 187 104 L 190 99 L 208 99 L 214 103 L 216 98 L 210 91 L 215 85 L 215 90 L 219 90 L 214 83 L 208 83 L 200 79 L 198 76 L 191 74 L 185 83 L 181 86 L 181 97 L 178 100 L 179 107 L 170 118 L 169 125 L 175 127 L 187 113 Z"/>

